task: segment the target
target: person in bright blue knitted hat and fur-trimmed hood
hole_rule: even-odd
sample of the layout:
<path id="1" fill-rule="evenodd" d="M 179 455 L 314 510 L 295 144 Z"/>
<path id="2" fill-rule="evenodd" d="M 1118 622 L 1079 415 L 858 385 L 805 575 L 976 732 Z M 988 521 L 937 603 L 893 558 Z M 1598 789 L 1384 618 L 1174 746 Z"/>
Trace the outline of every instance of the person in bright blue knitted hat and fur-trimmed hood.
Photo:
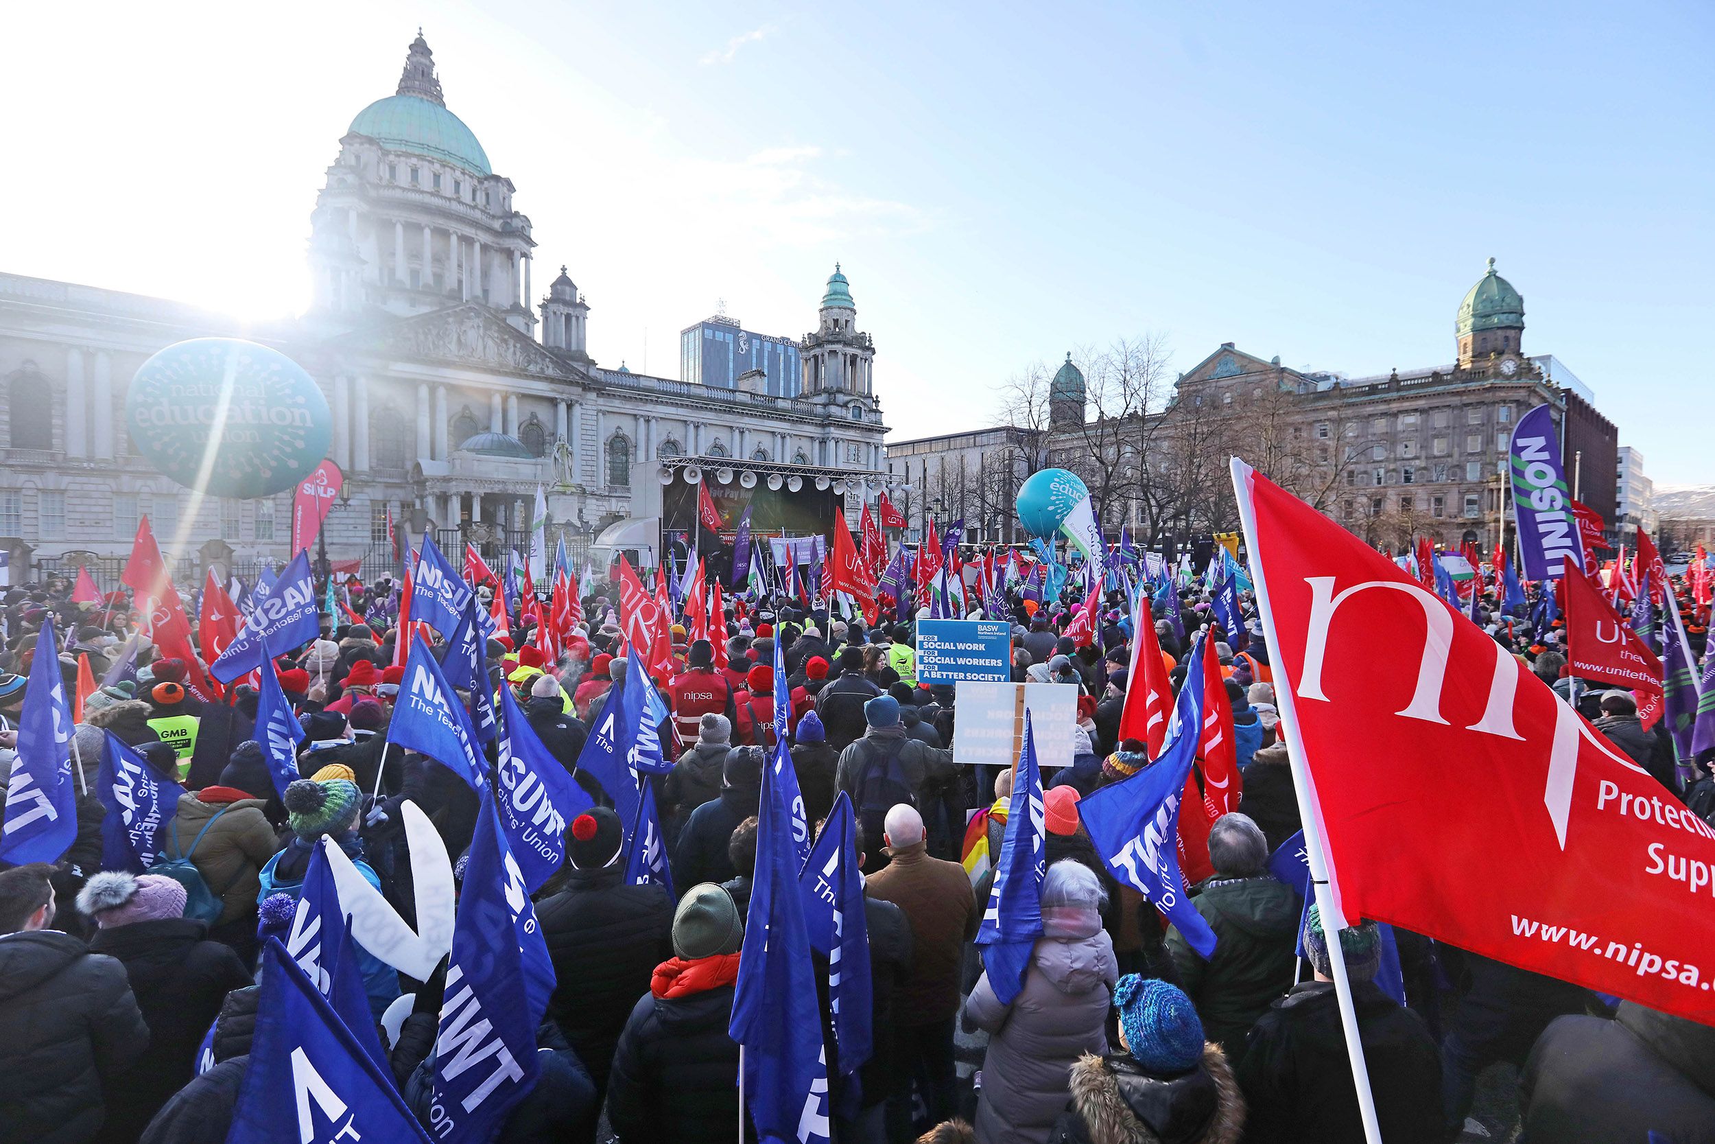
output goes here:
<path id="1" fill-rule="evenodd" d="M 1051 1139 L 1237 1144 L 1245 1101 L 1219 1046 L 1204 1043 L 1190 998 L 1166 981 L 1127 974 L 1113 1002 L 1122 1051 L 1086 1053 L 1072 1065 L 1072 1101 Z"/>

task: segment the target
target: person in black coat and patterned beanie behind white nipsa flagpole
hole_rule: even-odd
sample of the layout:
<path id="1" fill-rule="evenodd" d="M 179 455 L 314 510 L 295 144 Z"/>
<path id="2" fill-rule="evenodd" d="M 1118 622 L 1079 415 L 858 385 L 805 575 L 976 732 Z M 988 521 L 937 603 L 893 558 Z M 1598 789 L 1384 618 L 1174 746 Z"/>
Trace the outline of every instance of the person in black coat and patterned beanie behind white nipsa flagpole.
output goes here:
<path id="1" fill-rule="evenodd" d="M 1363 1141 L 1351 1060 L 1334 996 L 1331 950 L 1317 904 L 1305 911 L 1303 945 L 1315 979 L 1291 986 L 1286 996 L 1269 1005 L 1245 1039 L 1245 1057 L 1235 1067 L 1249 1105 L 1247 1117 L 1252 1123 L 1290 1125 L 1276 1134 L 1281 1141 Z M 1389 1144 L 1429 1144 L 1459 1135 L 1475 1093 L 1475 1072 L 1461 1101 L 1444 1099 L 1444 1084 L 1451 1082 L 1442 1074 L 1444 1050 L 1435 1048 L 1422 1017 L 1382 993 L 1374 981 L 1381 964 L 1381 935 L 1374 921 L 1341 930 L 1339 948 L 1346 959 L 1381 1137 Z M 1454 1050 L 1453 1034 L 1446 1050 Z M 1624 1070 L 1624 1063 L 1617 1067 Z M 1614 1069 L 1616 1058 L 1605 1058 L 1604 1074 L 1614 1075 Z M 1556 1134 L 1544 1139 L 1568 1137 Z M 1619 1137 L 1595 1134 L 1578 1139 Z"/>

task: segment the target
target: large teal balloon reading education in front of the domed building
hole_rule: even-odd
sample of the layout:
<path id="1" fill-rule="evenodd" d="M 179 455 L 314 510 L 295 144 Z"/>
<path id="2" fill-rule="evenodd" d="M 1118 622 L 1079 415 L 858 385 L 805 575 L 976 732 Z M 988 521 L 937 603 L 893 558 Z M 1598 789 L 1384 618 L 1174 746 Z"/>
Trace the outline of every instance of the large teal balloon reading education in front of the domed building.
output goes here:
<path id="1" fill-rule="evenodd" d="M 333 441 L 333 412 L 304 367 L 238 338 L 166 346 L 125 394 L 132 448 L 187 489 L 225 497 L 285 492 Z M 208 473 L 204 475 L 204 465 Z"/>

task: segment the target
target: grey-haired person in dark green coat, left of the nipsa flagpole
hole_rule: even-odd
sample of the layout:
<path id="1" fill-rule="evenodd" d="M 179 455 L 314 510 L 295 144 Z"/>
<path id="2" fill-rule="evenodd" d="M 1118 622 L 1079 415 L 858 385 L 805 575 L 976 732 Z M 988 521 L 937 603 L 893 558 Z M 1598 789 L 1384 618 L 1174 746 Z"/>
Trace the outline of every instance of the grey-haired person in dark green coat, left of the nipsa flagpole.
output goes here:
<path id="1" fill-rule="evenodd" d="M 1245 1033 L 1281 995 L 1297 964 L 1302 900 L 1269 870 L 1262 830 L 1240 813 L 1209 825 L 1209 864 L 1214 876 L 1190 900 L 1214 931 L 1214 954 L 1204 959 L 1178 928 L 1168 928 L 1166 950 L 1180 986 L 1197 1003 L 1211 1041 L 1238 1069 Z"/>

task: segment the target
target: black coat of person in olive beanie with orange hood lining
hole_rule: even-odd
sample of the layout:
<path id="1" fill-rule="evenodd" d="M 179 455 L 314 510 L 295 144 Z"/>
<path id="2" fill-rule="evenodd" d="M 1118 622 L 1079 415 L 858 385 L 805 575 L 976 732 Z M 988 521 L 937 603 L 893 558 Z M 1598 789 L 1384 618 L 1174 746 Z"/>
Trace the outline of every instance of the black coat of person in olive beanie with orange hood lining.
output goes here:
<path id="1" fill-rule="evenodd" d="M 727 1036 L 731 1021 L 731 984 L 638 1000 L 607 1082 L 607 1122 L 619 1144 L 732 1142 L 739 1046 Z M 749 1118 L 744 1139 L 756 1139 Z"/>

